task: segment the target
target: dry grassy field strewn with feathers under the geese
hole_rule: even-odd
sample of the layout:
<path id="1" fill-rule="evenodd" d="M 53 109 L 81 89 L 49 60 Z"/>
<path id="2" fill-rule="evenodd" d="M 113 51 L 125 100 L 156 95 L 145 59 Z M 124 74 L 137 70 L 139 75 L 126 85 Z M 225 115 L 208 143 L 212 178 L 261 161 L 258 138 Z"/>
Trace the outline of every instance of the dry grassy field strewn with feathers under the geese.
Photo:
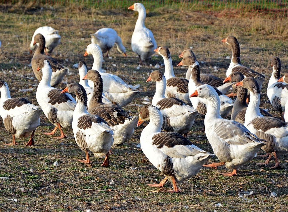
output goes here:
<path id="1" fill-rule="evenodd" d="M 128 6 L 130 4 L 125 8 Z M 59 86 L 63 89 L 67 83 L 79 81 L 78 70 L 72 68 L 73 64 L 85 60 L 88 67 L 92 67 L 92 56 L 83 57 L 90 44 L 89 35 L 101 27 L 112 27 L 122 37 L 128 57 L 122 57 L 113 48 L 110 52 L 113 58 L 104 58 L 103 68 L 130 84 L 141 84 L 141 93 L 124 107 L 137 116 L 141 107 L 135 104 L 141 105 L 145 96 L 152 100 L 155 91 L 155 83 L 145 83 L 145 80 L 151 70 L 155 70 L 154 66 L 163 60 L 154 55 L 147 65 L 136 69 L 138 58 L 130 46 L 136 19 L 137 13 L 125 9 L 2 4 L 0 78 L 9 85 L 12 97 L 25 96 L 37 104 L 38 81 L 29 67 L 32 55 L 28 51 L 35 29 L 49 25 L 60 30 L 61 44 L 52 56 L 69 66 L 72 72 L 67 82 Z M 228 35 L 236 36 L 240 42 L 242 64 L 266 76 L 262 107 L 278 116 L 268 102 L 266 87 L 272 72 L 272 56 L 281 59 L 282 73 L 287 71 L 288 20 L 285 16 L 240 15 L 239 10 L 232 9 L 191 12 L 185 7 L 181 10 L 157 7 L 147 10 L 146 26 L 153 31 L 158 46 L 169 47 L 177 76 L 185 76 L 186 71 L 186 68 L 176 67 L 180 61 L 178 55 L 191 47 L 200 61 L 201 72 L 224 78 L 230 63 L 227 57 L 232 53 L 221 40 Z M 164 72 L 163 67 L 160 70 Z M 33 90 L 19 92 L 28 88 Z M 179 186 L 181 193 L 169 194 L 164 191 L 172 187 L 170 183 L 160 191 L 146 185 L 157 183 L 164 177 L 141 149 L 136 148 L 143 126 L 136 127 L 129 142 L 113 149 L 108 168 L 100 167 L 102 159 L 92 155 L 92 166 L 78 162 L 77 159 L 84 158 L 85 154 L 75 143 L 72 129 L 64 130 L 68 138 L 63 140 L 43 135 L 53 128 L 42 115 L 34 147 L 22 145 L 28 139 L 18 139 L 20 145 L 9 147 L 4 143 L 11 142 L 12 136 L 5 131 L 1 121 L 0 211 L 288 211 L 287 156 L 280 158 L 282 168 L 277 170 L 257 166 L 256 163 L 264 162 L 263 158 L 257 157 L 243 166 L 238 176 L 231 178 L 221 175 L 227 171 L 224 167 L 218 170 L 203 168 Z M 204 121 L 198 117 L 188 138 L 198 147 L 212 152 L 203 132 Z M 274 160 L 271 165 L 273 163 Z M 251 191 L 253 193 L 248 195 Z M 270 197 L 271 191 L 277 196 Z M 244 194 L 247 195 L 241 197 Z"/>

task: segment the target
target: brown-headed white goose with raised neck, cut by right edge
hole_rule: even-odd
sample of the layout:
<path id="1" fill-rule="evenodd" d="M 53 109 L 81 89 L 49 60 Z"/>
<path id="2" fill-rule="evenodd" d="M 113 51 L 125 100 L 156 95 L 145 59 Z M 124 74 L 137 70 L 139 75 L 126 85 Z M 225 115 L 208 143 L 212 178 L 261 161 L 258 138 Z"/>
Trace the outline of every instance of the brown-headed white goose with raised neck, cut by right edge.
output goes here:
<path id="1" fill-rule="evenodd" d="M 280 112 L 281 119 L 284 121 L 282 112 L 285 110 L 285 104 L 288 100 L 288 84 L 284 80 L 280 80 L 281 61 L 278 57 L 273 57 L 271 66 L 273 72 L 268 82 L 267 96 L 272 106 Z"/>

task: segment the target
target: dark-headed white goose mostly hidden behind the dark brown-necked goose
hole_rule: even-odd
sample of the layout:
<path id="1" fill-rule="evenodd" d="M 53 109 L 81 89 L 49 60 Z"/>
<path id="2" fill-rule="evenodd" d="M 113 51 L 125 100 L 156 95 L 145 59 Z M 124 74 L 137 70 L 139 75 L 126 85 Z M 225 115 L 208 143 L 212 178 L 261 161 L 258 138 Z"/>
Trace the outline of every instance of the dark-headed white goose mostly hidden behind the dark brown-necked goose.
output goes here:
<path id="1" fill-rule="evenodd" d="M 79 71 L 79 76 L 80 76 L 80 80 L 79 80 L 79 84 L 82 85 L 87 93 L 87 105 L 89 105 L 89 102 L 92 98 L 93 95 L 93 87 L 91 88 L 88 84 L 88 80 L 84 80 L 84 76 L 87 74 L 87 65 L 84 61 L 80 61 L 78 64 L 78 71 Z M 104 93 L 102 93 L 102 101 L 105 104 L 109 104 L 111 103 L 109 101 L 109 99 L 107 99 L 104 95 Z"/>

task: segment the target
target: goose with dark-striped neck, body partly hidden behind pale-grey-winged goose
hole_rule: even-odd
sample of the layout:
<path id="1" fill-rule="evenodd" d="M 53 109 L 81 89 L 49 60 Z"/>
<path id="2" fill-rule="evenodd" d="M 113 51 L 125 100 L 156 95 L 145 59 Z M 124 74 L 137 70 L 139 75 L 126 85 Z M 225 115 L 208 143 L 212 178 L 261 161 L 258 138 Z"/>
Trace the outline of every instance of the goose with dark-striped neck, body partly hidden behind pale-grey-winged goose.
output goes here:
<path id="1" fill-rule="evenodd" d="M 199 63 L 197 62 L 196 58 L 194 57 L 185 57 L 181 60 L 179 65 L 185 65 L 189 66 L 191 69 L 191 77 L 188 83 L 189 86 L 189 93 L 192 93 L 195 91 L 195 89 L 199 85 L 203 85 L 203 83 L 200 80 L 200 67 Z M 220 98 L 220 115 L 221 117 L 226 117 L 226 115 L 230 112 L 230 110 L 233 107 L 233 100 L 227 97 L 226 95 L 223 95 L 217 88 L 214 87 L 214 89 L 217 91 L 219 98 Z M 190 94 L 191 95 L 191 94 Z M 190 98 L 190 101 L 193 105 L 193 107 L 198 111 L 198 113 L 203 117 L 205 116 L 207 112 L 207 101 L 205 98 Z"/>

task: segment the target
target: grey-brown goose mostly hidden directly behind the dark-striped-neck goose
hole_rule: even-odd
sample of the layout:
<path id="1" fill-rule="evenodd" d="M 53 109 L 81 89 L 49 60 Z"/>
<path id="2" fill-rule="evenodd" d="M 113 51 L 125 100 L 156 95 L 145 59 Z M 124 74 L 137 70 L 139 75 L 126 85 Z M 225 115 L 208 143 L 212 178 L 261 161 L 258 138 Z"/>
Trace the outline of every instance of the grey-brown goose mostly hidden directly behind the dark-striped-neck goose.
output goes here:
<path id="1" fill-rule="evenodd" d="M 196 59 L 194 52 L 191 49 L 185 49 L 180 55 L 179 58 L 184 57 L 193 57 Z M 185 78 L 189 80 L 191 77 L 191 69 L 188 67 Z M 211 85 L 212 87 L 217 88 L 221 93 L 225 94 L 232 87 L 234 83 L 223 83 L 223 79 L 212 74 L 200 73 L 200 80 L 203 84 Z M 228 94 L 227 96 L 232 96 Z"/>

